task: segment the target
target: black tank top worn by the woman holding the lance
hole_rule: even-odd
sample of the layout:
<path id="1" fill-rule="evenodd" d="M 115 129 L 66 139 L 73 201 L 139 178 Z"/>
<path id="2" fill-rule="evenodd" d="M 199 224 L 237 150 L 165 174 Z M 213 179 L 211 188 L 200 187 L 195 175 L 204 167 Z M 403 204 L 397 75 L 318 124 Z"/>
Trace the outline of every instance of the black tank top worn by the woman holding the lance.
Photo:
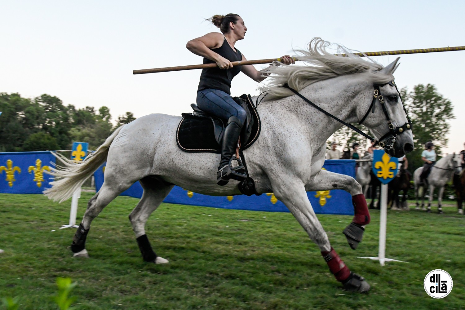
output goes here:
<path id="1" fill-rule="evenodd" d="M 234 52 L 233 48 L 229 46 L 228 41 L 223 41 L 223 45 L 218 48 L 212 48 L 213 52 L 218 53 L 220 56 L 228 59 L 229 61 L 242 60 L 242 54 L 236 48 Z M 214 64 L 213 60 L 204 58 L 204 64 Z M 231 94 L 231 81 L 233 77 L 239 74 L 241 66 L 233 66 L 231 69 L 223 70 L 218 67 L 202 69 L 200 74 L 200 83 L 197 91 L 201 91 L 207 88 L 218 89 L 226 92 L 228 95 Z"/>

